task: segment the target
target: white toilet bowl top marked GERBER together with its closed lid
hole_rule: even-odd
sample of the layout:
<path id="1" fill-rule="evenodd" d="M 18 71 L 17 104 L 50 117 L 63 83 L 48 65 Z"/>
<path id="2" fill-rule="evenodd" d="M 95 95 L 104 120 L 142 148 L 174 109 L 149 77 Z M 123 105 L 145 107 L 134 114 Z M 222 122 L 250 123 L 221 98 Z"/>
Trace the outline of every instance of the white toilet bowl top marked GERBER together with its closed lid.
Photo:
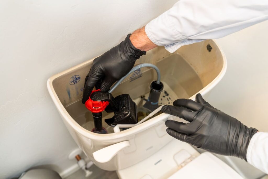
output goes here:
<path id="1" fill-rule="evenodd" d="M 238 178 L 242 177 L 215 155 L 199 154 L 191 145 L 173 139 L 154 155 L 117 170 L 121 179 Z"/>

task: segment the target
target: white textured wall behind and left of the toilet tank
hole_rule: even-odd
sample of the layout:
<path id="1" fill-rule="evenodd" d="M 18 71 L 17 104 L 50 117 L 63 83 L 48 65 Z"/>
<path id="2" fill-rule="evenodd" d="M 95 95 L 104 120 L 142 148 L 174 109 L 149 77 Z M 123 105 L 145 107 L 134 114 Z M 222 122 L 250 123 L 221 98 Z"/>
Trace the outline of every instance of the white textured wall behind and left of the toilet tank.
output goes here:
<path id="1" fill-rule="evenodd" d="M 0 2 L 0 178 L 73 165 L 77 148 L 47 92 L 47 79 L 98 56 L 177 0 Z"/>

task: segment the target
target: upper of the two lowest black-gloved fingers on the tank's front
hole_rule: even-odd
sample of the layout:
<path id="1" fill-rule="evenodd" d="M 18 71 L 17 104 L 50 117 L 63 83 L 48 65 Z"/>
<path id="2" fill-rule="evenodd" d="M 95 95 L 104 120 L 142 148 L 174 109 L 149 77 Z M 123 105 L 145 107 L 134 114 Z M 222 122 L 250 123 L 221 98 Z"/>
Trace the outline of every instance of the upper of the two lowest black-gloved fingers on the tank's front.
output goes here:
<path id="1" fill-rule="evenodd" d="M 183 122 L 178 122 L 175 120 L 167 120 L 165 122 L 165 125 L 174 131 L 177 131 L 179 133 L 191 135 L 195 132 L 196 129 L 191 127 L 191 123 L 185 124 Z"/>

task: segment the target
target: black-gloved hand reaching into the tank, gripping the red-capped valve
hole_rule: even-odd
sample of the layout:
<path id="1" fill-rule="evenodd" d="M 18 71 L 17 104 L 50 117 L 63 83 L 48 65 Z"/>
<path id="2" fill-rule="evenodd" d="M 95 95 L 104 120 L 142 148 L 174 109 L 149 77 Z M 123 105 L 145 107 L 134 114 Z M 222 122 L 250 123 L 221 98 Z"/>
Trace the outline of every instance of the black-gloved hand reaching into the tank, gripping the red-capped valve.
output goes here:
<path id="1" fill-rule="evenodd" d="M 82 103 L 85 103 L 94 86 L 103 92 L 109 91 L 114 82 L 125 76 L 140 56 L 146 54 L 135 48 L 128 34 L 126 39 L 111 48 L 93 61 L 93 65 L 85 78 Z"/>

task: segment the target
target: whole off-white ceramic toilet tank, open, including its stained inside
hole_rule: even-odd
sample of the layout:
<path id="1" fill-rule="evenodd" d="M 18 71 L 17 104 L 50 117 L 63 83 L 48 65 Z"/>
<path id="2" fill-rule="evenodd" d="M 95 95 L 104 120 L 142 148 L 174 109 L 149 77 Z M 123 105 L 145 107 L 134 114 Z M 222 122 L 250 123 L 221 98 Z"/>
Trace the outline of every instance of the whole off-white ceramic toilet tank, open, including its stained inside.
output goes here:
<path id="1" fill-rule="evenodd" d="M 81 98 L 84 79 L 94 59 L 51 76 L 47 88 L 65 126 L 83 152 L 104 170 L 124 169 L 148 158 L 172 140 L 164 124 L 169 115 L 159 114 L 137 126 L 114 133 L 113 128 L 104 122 L 113 114 L 103 113 L 103 125 L 108 133 L 91 132 L 94 127 L 92 114 L 81 103 Z M 164 83 L 159 99 L 162 105 L 171 105 L 177 98 L 194 99 L 197 93 L 207 94 L 222 79 L 227 65 L 224 53 L 213 40 L 186 45 L 174 53 L 157 47 L 148 51 L 135 65 L 141 63 L 151 63 L 159 68 Z M 127 93 L 138 103 L 142 95 L 148 95 L 150 83 L 156 79 L 157 74 L 152 68 L 140 68 L 112 94 Z M 104 160 L 93 155 L 96 151 L 102 152 L 99 154 Z"/>

